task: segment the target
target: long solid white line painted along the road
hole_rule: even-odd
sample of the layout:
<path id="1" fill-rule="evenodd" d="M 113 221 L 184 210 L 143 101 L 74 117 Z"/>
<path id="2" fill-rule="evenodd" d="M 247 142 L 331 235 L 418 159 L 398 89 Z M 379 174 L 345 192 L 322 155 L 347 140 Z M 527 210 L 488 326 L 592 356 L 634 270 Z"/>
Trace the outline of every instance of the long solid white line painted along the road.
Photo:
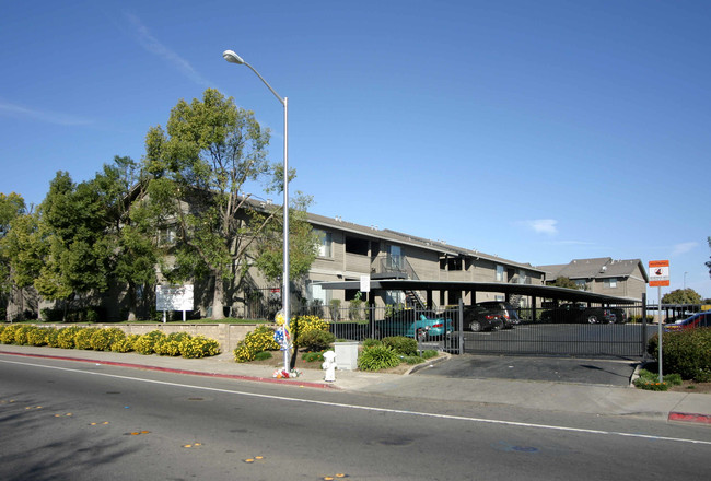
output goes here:
<path id="1" fill-rule="evenodd" d="M 550 425 L 550 424 L 522 423 L 522 422 L 516 422 L 516 421 L 491 420 L 491 419 L 483 419 L 483 418 L 470 418 L 470 417 L 452 415 L 452 414 L 435 414 L 435 413 L 430 413 L 430 412 L 405 411 L 405 410 L 388 409 L 388 408 L 373 408 L 373 407 L 370 407 L 370 406 L 343 404 L 343 403 L 340 403 L 340 402 L 316 401 L 316 400 L 312 400 L 312 399 L 299 399 L 299 398 L 290 398 L 290 397 L 285 397 L 285 396 L 263 395 L 263 394 L 256 394 L 256 392 L 238 391 L 238 390 L 233 390 L 233 389 L 221 389 L 221 388 L 214 388 L 214 387 L 195 386 L 195 385 L 190 385 L 190 384 L 168 383 L 168 382 L 164 382 L 164 380 L 152 380 L 152 379 L 141 379 L 140 377 L 119 376 L 119 375 L 116 375 L 116 374 L 96 373 L 96 372 L 92 372 L 92 371 L 72 369 L 72 368 L 69 368 L 69 367 L 59 367 L 59 366 L 46 366 L 46 365 L 42 365 L 42 364 L 23 363 L 23 362 L 18 362 L 18 361 L 0 360 L 0 363 L 19 364 L 19 365 L 32 366 L 32 367 L 43 367 L 43 368 L 56 369 L 56 371 L 67 371 L 67 372 L 71 372 L 71 373 L 89 374 L 89 375 L 93 375 L 93 376 L 103 376 L 103 377 L 113 377 L 113 378 L 117 378 L 117 379 L 135 380 L 135 382 L 139 382 L 139 383 L 158 384 L 158 385 L 163 385 L 163 386 L 184 387 L 184 388 L 199 389 L 199 390 L 206 390 L 206 391 L 212 391 L 212 392 L 224 392 L 224 394 L 245 396 L 245 397 L 252 397 L 252 398 L 273 399 L 273 400 L 287 401 L 287 402 L 301 402 L 301 403 L 305 403 L 305 404 L 328 406 L 328 407 L 333 407 L 333 408 L 343 408 L 343 409 L 354 409 L 354 410 L 361 410 L 361 411 L 385 412 L 385 413 L 392 413 L 392 414 L 416 415 L 416 417 L 421 417 L 421 418 L 435 418 L 435 419 L 445 419 L 445 420 L 454 420 L 454 421 L 468 421 L 468 422 L 473 422 L 473 423 L 499 424 L 499 425 L 517 426 L 517 427 L 532 427 L 532 429 L 537 429 L 537 430 L 566 431 L 566 432 L 582 433 L 582 434 L 597 434 L 597 435 L 606 435 L 606 436 L 634 437 L 634 438 L 640 438 L 640 439 L 653 439 L 653 441 L 669 441 L 669 442 L 676 442 L 676 443 L 700 444 L 700 445 L 711 446 L 711 442 L 709 442 L 709 441 L 686 439 L 686 438 L 683 438 L 683 437 L 653 436 L 653 435 L 650 435 L 650 434 L 621 433 L 621 432 L 616 432 L 616 431 L 588 430 L 588 429 L 581 429 L 581 427 L 555 426 L 555 425 Z M 97 364 L 101 364 L 101 362 L 97 362 Z"/>

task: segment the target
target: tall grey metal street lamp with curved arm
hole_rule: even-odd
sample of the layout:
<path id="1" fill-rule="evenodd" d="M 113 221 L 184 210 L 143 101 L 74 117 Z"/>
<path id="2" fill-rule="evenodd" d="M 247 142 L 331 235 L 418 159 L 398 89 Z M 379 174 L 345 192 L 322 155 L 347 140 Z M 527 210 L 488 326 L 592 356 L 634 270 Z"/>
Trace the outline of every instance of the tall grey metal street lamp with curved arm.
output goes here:
<path id="1" fill-rule="evenodd" d="M 249 70 L 252 70 L 254 73 L 257 74 L 259 80 L 264 82 L 265 85 L 267 85 L 267 89 L 277 97 L 277 99 L 283 105 L 284 107 L 284 203 L 283 203 L 283 210 L 284 210 L 284 257 L 283 257 L 283 285 L 281 288 L 281 308 L 283 310 L 283 316 L 284 316 L 284 335 L 285 332 L 289 332 L 289 318 L 290 318 L 290 290 L 289 290 L 289 98 L 288 97 L 281 97 L 277 91 L 275 91 L 269 83 L 264 80 L 264 77 L 259 74 L 255 70 L 254 67 L 252 67 L 249 63 L 245 62 L 242 57 L 240 57 L 237 54 L 235 54 L 232 50 L 224 50 L 222 52 L 222 57 L 229 61 L 230 63 L 237 63 L 240 66 L 247 66 L 249 67 Z M 284 336 L 285 338 L 285 336 Z M 289 350 L 291 349 L 290 342 L 287 343 L 285 349 L 284 349 L 284 371 L 289 373 Z"/>

